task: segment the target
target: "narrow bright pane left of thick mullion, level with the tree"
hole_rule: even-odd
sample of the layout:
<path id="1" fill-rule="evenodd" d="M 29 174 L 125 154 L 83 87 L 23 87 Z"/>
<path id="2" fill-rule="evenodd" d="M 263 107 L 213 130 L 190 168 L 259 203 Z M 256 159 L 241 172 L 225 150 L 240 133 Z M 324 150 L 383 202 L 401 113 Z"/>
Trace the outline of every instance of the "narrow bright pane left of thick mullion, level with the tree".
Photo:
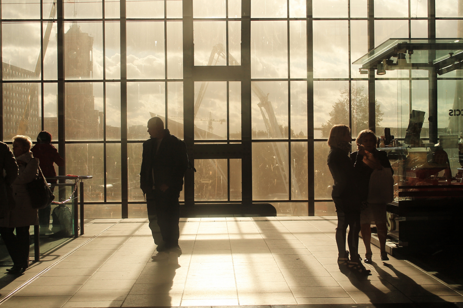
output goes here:
<path id="1" fill-rule="evenodd" d="M 291 138 L 307 138 L 307 81 L 291 81 Z"/>

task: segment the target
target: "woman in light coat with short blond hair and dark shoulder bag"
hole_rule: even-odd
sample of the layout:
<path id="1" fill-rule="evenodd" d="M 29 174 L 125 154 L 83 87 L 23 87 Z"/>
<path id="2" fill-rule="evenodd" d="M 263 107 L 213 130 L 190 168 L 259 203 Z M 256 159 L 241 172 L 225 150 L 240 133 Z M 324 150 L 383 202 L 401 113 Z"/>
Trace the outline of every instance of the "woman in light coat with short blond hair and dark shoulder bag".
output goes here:
<path id="1" fill-rule="evenodd" d="M 32 156 L 31 145 L 27 136 L 13 137 L 13 154 L 19 166 L 19 174 L 11 185 L 15 206 L 0 219 L 0 235 L 14 264 L 7 270 L 10 274 L 21 274 L 29 266 L 29 229 L 38 224 L 38 211 L 32 208 L 26 188 L 26 184 L 38 176 L 38 160 Z"/>

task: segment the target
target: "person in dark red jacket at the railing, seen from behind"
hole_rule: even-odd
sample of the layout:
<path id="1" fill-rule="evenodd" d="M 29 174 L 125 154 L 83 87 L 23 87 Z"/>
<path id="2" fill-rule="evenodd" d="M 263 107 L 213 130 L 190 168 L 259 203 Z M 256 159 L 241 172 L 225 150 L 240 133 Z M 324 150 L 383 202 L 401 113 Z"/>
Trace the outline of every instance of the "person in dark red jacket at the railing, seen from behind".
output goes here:
<path id="1" fill-rule="evenodd" d="M 59 156 L 56 148 L 51 144 L 51 134 L 47 131 L 38 133 L 37 144 L 31 149 L 35 158 L 38 158 L 40 169 L 44 177 L 56 176 L 55 167 L 53 163 L 56 163 L 59 167 L 64 166 L 64 160 Z M 47 180 L 51 184 L 56 184 L 56 180 Z M 55 187 L 51 186 L 51 191 Z M 51 205 L 44 209 L 38 210 L 38 221 L 40 224 L 40 234 L 50 233 L 50 211 Z"/>

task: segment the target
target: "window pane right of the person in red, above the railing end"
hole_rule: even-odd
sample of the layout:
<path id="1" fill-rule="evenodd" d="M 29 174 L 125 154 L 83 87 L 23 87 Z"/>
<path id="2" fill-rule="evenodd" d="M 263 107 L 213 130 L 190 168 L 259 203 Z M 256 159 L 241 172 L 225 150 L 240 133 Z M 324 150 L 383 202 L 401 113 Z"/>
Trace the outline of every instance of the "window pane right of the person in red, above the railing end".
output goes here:
<path id="1" fill-rule="evenodd" d="M 93 175 L 92 179 L 84 182 L 86 202 L 104 201 L 103 156 L 103 144 L 66 145 L 66 173 Z"/>

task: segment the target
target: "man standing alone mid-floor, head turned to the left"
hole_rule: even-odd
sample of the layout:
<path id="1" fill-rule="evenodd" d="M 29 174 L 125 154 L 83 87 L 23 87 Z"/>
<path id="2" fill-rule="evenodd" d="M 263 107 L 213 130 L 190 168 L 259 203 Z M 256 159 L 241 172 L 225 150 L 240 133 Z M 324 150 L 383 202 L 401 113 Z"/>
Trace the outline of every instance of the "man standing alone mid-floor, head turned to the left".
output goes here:
<path id="1" fill-rule="evenodd" d="M 148 121 L 148 133 L 150 139 L 143 143 L 140 188 L 146 197 L 150 229 L 157 245 L 157 254 L 151 258 L 178 264 L 181 255 L 178 199 L 188 169 L 187 146 L 164 129 L 159 117 Z"/>

